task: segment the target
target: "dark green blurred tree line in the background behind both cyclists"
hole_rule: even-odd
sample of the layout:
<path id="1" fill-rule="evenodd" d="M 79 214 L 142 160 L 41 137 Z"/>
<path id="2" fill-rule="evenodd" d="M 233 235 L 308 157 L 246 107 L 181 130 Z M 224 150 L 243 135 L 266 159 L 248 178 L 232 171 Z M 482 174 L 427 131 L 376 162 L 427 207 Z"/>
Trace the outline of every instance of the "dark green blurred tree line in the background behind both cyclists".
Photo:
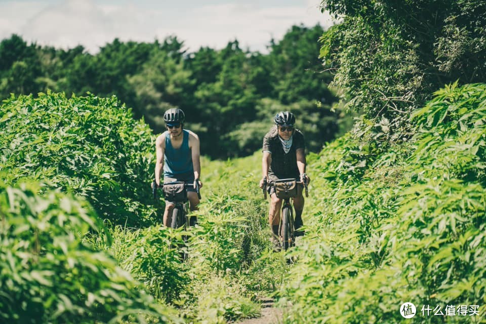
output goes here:
<path id="1" fill-rule="evenodd" d="M 339 130 L 332 75 L 319 59 L 322 33 L 319 25 L 292 26 L 269 42 L 266 54 L 242 49 L 236 39 L 221 50 L 188 52 L 177 36 L 153 43 L 114 39 L 90 54 L 83 46 L 27 44 L 13 34 L 0 43 L 0 98 L 47 90 L 115 95 L 155 134 L 165 130 L 164 111 L 179 107 L 201 152 L 212 158 L 253 153 L 273 115 L 291 110 L 309 150 L 318 151 Z"/>

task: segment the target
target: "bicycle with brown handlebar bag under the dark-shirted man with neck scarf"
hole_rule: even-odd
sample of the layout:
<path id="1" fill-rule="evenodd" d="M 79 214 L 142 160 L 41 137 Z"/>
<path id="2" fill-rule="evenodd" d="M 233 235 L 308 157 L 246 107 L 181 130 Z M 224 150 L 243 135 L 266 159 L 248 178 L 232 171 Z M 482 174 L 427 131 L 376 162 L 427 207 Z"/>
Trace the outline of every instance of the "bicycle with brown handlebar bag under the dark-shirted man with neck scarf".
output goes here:
<path id="1" fill-rule="evenodd" d="M 305 174 L 304 179 L 306 179 Z M 267 178 L 265 177 L 263 178 L 263 195 L 265 199 L 267 198 L 267 185 L 273 185 L 277 197 L 284 199 L 280 214 L 280 223 L 278 224 L 278 233 L 280 233 L 282 248 L 284 251 L 287 251 L 290 247 L 295 246 L 294 209 L 290 200 L 297 196 L 297 185 L 303 185 L 305 188 L 305 196 L 309 196 L 307 182 L 299 181 L 299 179 L 281 179 L 267 182 Z"/>

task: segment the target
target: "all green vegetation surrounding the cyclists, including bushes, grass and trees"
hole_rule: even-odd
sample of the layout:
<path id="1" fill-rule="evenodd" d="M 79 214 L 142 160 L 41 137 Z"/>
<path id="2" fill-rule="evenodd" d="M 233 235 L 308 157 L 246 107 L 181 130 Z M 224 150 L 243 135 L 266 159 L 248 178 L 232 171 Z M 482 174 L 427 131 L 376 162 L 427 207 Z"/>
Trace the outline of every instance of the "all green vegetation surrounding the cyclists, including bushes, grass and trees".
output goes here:
<path id="1" fill-rule="evenodd" d="M 0 89 L 17 94 L 0 105 L 0 319 L 226 323 L 258 316 L 272 296 L 285 323 L 398 323 L 404 302 L 416 322 L 485 323 L 485 5 L 322 6 L 341 23 L 293 27 L 268 55 L 237 42 L 184 53 L 176 38 L 114 41 L 97 55 L 4 40 Z M 308 154 L 306 235 L 273 253 L 255 152 L 271 115 L 295 112 L 311 149 L 333 138 L 315 140 L 335 126 L 334 97 L 315 97 L 330 75 L 291 64 L 320 64 L 314 33 L 342 105 L 362 115 Z M 203 158 L 199 224 L 187 232 L 161 226 L 164 199 L 149 187 L 154 120 L 169 105 L 200 118 L 187 126 L 207 152 L 255 152 Z M 182 235 L 185 261 L 173 248 Z"/>

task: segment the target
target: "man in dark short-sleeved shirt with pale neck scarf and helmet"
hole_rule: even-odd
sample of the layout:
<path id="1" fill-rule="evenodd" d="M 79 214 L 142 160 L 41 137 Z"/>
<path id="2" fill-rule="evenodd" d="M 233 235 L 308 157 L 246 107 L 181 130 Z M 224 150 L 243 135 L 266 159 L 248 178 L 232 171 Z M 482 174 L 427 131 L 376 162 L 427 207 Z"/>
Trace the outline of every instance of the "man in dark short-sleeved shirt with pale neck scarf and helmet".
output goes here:
<path id="1" fill-rule="evenodd" d="M 260 188 L 263 188 L 265 178 L 268 181 L 295 178 L 309 183 L 310 179 L 305 175 L 304 135 L 294 127 L 294 114 L 289 111 L 282 111 L 275 115 L 273 121 L 275 125 L 263 138 L 263 178 L 260 181 Z M 273 233 L 274 245 L 278 248 L 278 224 L 282 199 L 277 198 L 274 186 L 268 187 L 268 193 L 271 199 L 269 223 Z M 302 195 L 302 186 L 298 186 L 297 196 L 294 198 L 294 208 L 295 235 L 302 236 L 304 232 L 298 230 L 303 225 L 304 196 Z"/>

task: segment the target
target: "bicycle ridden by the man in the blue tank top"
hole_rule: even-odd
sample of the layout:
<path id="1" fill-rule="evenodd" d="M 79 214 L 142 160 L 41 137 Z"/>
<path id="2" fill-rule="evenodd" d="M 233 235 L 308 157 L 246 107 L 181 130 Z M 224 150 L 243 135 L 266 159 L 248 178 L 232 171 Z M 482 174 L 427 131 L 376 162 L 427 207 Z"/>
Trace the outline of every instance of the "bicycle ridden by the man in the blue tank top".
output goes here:
<path id="1" fill-rule="evenodd" d="M 200 199 L 201 194 L 199 192 L 199 179 L 195 181 L 197 197 Z M 195 225 L 195 218 L 187 217 L 188 214 L 188 201 L 187 198 L 187 188 L 194 188 L 193 184 L 185 183 L 183 181 L 175 181 L 164 183 L 157 186 L 155 180 L 152 182 L 152 195 L 155 199 L 157 197 L 157 188 L 162 188 L 164 193 L 164 198 L 166 201 L 173 201 L 175 203 L 174 209 L 172 210 L 171 228 L 177 229 L 184 226 L 184 230 L 189 226 Z M 183 235 L 182 239 L 184 244 L 187 244 L 188 236 Z M 184 252 L 183 259 L 187 258 L 187 253 Z"/>

